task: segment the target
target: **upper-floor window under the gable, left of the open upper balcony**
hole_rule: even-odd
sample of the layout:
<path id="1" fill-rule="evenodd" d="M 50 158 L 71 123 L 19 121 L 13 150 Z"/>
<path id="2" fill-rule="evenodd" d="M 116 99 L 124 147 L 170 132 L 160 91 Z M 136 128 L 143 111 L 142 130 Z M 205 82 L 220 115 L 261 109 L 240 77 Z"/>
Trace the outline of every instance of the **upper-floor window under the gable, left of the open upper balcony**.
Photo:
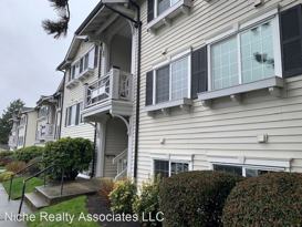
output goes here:
<path id="1" fill-rule="evenodd" d="M 94 69 L 96 64 L 96 48 L 91 49 L 81 59 L 72 63 L 69 81 L 79 78 L 87 69 Z"/>

